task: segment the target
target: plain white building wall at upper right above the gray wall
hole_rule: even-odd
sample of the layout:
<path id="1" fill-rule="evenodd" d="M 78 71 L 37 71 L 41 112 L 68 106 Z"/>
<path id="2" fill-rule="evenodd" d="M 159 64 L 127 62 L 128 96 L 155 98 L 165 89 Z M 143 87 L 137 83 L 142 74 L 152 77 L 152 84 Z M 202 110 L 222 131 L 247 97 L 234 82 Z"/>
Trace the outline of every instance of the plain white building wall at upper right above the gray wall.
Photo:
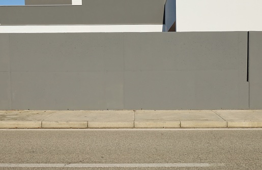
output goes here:
<path id="1" fill-rule="evenodd" d="M 261 31 L 261 0 L 177 0 L 177 31 Z"/>

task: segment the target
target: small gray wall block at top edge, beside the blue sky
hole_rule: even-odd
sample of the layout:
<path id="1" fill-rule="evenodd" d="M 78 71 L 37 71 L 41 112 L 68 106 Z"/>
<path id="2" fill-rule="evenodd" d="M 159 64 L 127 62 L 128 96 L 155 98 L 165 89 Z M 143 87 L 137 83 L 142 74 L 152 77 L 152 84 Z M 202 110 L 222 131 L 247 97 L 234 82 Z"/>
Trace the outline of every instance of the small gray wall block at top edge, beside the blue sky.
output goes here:
<path id="1" fill-rule="evenodd" d="M 25 0 L 25 5 L 72 5 L 72 0 Z"/>

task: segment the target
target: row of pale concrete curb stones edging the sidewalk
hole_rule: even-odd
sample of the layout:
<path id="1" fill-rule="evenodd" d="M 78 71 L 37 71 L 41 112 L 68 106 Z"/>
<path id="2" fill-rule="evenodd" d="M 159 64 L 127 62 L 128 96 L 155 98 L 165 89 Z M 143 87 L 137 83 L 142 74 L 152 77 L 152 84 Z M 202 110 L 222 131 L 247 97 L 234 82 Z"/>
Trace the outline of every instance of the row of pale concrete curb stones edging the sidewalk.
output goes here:
<path id="1" fill-rule="evenodd" d="M 254 128 L 262 121 L 0 121 L 0 128 Z"/>

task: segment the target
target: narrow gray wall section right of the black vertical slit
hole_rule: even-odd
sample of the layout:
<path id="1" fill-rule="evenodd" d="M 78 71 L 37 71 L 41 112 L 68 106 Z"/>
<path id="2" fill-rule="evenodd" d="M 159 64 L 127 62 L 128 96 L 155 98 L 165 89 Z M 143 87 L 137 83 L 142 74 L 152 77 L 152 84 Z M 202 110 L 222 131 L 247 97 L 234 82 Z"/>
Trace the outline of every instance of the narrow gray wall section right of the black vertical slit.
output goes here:
<path id="1" fill-rule="evenodd" d="M 250 109 L 262 109 L 262 31 L 249 32 Z"/>

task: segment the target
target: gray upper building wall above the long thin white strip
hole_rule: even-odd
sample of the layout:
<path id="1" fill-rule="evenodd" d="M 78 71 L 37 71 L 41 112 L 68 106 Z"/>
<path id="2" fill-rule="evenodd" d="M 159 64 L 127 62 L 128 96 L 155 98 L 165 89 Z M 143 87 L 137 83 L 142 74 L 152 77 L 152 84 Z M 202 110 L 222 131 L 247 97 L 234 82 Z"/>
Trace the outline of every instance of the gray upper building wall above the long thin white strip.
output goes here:
<path id="1" fill-rule="evenodd" d="M 1 25 L 162 24 L 166 0 L 83 0 L 82 6 L 4 6 Z"/>

